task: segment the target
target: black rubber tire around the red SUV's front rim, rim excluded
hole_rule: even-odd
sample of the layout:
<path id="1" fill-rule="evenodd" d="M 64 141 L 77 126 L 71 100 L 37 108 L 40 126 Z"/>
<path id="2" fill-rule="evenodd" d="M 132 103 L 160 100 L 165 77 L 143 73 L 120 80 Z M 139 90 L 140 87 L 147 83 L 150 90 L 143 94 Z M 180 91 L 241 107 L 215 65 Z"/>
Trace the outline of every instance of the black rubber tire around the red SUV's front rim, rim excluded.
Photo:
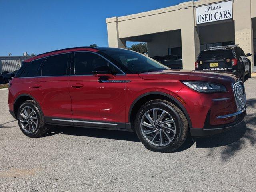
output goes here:
<path id="1" fill-rule="evenodd" d="M 154 146 L 152 144 L 150 144 L 142 135 L 141 132 L 141 128 L 140 128 L 140 122 L 142 119 L 143 114 L 152 109 L 152 108 L 160 108 L 162 110 L 167 111 L 172 118 L 174 119 L 175 122 L 175 126 L 176 126 L 176 133 L 175 136 L 172 140 L 172 142 L 170 142 L 170 144 L 166 145 L 166 146 Z M 135 122 L 135 130 L 136 133 L 139 137 L 139 139 L 142 141 L 142 143 L 144 144 L 144 146 L 149 149 L 149 150 L 153 150 L 153 151 L 161 151 L 161 152 L 167 152 L 169 151 L 171 148 L 173 148 L 174 150 L 176 149 L 176 145 L 178 144 L 178 142 L 180 141 L 180 136 L 182 135 L 182 121 L 180 120 L 180 116 L 176 113 L 176 111 L 174 110 L 174 108 L 172 108 L 172 106 L 170 106 L 168 103 L 166 102 L 159 102 L 159 101 L 151 101 L 148 102 L 146 104 L 144 104 L 140 110 L 138 111 L 138 114 L 136 116 L 136 122 Z"/>

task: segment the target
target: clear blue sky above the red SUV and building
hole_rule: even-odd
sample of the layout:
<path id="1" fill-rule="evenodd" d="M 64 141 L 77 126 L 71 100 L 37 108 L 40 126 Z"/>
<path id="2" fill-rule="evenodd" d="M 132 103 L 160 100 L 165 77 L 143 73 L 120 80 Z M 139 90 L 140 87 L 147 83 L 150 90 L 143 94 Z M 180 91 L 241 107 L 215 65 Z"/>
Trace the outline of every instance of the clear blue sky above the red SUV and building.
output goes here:
<path id="1" fill-rule="evenodd" d="M 21 56 L 25 51 L 40 54 L 94 43 L 108 46 L 106 18 L 186 1 L 0 0 L 0 56 L 8 56 L 8 52 Z"/>

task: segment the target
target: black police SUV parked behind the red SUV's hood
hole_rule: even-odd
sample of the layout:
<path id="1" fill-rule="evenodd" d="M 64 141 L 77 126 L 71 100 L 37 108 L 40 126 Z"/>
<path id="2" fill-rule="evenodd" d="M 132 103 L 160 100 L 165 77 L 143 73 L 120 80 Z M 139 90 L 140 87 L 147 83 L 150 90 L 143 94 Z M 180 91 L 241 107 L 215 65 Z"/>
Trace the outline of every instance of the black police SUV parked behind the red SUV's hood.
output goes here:
<path id="1" fill-rule="evenodd" d="M 232 73 L 244 81 L 245 78 L 251 78 L 251 61 L 247 58 L 249 56 L 252 54 L 245 55 L 238 45 L 210 47 L 200 52 L 195 69 Z"/>

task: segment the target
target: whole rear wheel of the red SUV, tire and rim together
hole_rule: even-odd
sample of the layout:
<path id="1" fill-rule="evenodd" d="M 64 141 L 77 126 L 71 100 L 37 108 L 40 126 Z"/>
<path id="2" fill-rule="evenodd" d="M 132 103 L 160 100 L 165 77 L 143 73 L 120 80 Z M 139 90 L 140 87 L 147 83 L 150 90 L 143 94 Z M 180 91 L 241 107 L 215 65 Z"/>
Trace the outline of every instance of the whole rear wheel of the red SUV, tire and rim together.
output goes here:
<path id="1" fill-rule="evenodd" d="M 28 137 L 40 137 L 47 131 L 42 110 L 33 100 L 27 100 L 20 105 L 17 120 L 20 130 Z"/>

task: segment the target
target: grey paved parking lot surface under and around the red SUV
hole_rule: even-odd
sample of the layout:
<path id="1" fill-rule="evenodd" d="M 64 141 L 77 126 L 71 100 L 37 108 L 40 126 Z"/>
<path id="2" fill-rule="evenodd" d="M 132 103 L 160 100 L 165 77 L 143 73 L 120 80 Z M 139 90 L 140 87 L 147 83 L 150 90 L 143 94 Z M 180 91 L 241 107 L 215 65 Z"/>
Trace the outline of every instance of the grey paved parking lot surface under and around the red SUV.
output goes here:
<path id="1" fill-rule="evenodd" d="M 256 191 L 256 78 L 245 87 L 244 122 L 167 154 L 133 132 L 56 127 L 28 138 L 0 90 L 0 192 Z"/>

